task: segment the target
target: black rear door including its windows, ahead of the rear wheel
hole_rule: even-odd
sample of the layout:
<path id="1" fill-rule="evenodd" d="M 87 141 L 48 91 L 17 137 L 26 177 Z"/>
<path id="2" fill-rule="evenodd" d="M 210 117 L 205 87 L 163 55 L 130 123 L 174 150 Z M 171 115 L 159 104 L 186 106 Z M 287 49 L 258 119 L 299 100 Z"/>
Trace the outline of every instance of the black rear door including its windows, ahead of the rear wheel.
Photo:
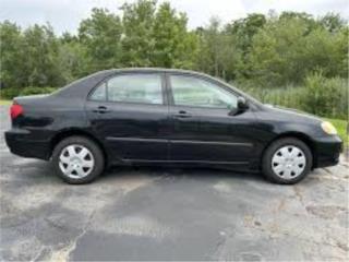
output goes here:
<path id="1" fill-rule="evenodd" d="M 161 73 L 123 73 L 101 83 L 86 110 L 113 162 L 168 159 L 168 106 Z"/>

